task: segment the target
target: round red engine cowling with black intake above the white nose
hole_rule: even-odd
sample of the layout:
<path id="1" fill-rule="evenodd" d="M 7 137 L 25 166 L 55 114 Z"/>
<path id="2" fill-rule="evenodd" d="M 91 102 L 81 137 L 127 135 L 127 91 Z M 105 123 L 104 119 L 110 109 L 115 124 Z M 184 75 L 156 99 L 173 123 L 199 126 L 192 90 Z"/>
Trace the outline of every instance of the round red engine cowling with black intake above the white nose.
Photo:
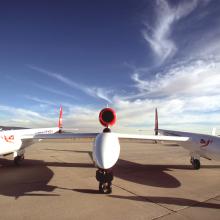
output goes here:
<path id="1" fill-rule="evenodd" d="M 99 113 L 99 121 L 104 127 L 109 127 L 116 122 L 116 113 L 112 108 L 104 108 Z"/>

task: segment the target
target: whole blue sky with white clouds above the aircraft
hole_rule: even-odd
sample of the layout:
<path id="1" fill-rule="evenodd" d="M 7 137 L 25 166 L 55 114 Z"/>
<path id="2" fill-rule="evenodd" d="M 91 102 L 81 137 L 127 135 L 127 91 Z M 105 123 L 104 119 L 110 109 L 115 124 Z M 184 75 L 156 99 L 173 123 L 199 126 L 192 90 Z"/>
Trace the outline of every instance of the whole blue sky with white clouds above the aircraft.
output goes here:
<path id="1" fill-rule="evenodd" d="M 0 6 L 2 125 L 210 132 L 220 124 L 217 0 L 7 1 Z"/>

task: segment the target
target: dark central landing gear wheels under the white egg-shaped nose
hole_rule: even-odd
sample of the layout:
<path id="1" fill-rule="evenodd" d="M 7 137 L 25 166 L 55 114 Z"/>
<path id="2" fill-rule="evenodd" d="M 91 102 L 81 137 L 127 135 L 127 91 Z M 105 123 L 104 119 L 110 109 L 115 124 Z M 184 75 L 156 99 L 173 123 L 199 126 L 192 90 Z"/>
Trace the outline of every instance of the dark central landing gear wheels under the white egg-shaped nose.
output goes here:
<path id="1" fill-rule="evenodd" d="M 112 192 L 113 173 L 111 170 L 98 169 L 96 179 L 99 182 L 99 192 L 110 194 Z"/>

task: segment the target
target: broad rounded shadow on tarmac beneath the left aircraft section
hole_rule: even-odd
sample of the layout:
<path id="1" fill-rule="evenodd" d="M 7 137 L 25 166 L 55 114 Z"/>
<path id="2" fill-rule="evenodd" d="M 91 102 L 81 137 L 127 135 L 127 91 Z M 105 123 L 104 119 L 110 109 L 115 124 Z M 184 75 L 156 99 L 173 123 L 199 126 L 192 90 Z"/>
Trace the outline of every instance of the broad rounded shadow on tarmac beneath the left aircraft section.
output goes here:
<path id="1" fill-rule="evenodd" d="M 13 161 L 0 159 L 0 195 L 21 196 L 59 196 L 52 193 L 55 189 L 65 189 L 49 185 L 54 172 L 48 166 L 55 167 L 94 167 L 91 163 L 44 162 L 25 159 L 19 167 Z"/>

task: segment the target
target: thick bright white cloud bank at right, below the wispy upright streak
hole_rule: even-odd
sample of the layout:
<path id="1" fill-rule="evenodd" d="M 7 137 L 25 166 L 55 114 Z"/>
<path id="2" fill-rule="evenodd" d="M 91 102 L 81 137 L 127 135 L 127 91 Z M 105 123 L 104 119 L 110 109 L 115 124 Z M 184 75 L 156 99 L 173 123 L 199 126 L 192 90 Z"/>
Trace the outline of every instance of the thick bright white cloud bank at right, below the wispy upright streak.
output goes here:
<path id="1" fill-rule="evenodd" d="M 146 97 L 212 95 L 220 86 L 219 70 L 220 62 L 197 60 L 157 73 L 153 80 L 141 80 L 138 73 L 133 74 L 132 79 Z"/>

